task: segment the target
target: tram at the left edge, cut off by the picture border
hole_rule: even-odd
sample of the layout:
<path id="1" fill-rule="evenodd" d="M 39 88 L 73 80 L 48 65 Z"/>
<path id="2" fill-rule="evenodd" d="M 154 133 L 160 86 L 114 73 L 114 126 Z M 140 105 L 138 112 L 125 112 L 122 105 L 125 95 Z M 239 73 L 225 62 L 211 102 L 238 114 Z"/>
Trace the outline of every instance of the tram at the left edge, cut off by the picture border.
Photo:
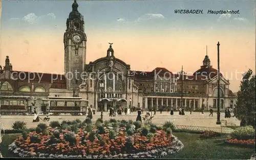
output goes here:
<path id="1" fill-rule="evenodd" d="M 31 112 L 35 98 L 30 96 L 0 96 L 2 115 Z"/>

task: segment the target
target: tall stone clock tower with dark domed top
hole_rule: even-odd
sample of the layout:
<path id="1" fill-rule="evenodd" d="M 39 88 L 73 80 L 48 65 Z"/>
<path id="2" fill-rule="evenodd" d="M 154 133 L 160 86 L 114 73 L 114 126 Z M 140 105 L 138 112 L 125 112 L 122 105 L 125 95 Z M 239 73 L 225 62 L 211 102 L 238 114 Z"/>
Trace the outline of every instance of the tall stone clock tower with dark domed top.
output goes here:
<path id="1" fill-rule="evenodd" d="M 77 10 L 78 4 L 74 1 L 72 11 L 67 19 L 67 29 L 64 33 L 65 48 L 65 76 L 67 88 L 78 88 L 82 83 L 81 74 L 86 65 L 86 42 L 87 36 L 84 33 L 84 20 Z"/>

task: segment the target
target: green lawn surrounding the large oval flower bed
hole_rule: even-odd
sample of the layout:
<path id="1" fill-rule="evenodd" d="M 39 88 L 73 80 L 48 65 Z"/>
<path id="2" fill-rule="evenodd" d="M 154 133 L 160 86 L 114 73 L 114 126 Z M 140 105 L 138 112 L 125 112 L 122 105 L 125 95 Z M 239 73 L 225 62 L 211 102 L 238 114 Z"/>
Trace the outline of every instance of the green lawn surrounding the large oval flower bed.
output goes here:
<path id="1" fill-rule="evenodd" d="M 8 153 L 10 145 L 21 134 L 5 134 L 2 138 L 1 151 L 4 157 L 13 157 Z M 175 132 L 175 136 L 184 144 L 184 148 L 177 154 L 166 158 L 189 159 L 249 159 L 254 148 L 230 146 L 224 144 L 226 136 L 214 139 L 200 139 L 196 133 Z"/>

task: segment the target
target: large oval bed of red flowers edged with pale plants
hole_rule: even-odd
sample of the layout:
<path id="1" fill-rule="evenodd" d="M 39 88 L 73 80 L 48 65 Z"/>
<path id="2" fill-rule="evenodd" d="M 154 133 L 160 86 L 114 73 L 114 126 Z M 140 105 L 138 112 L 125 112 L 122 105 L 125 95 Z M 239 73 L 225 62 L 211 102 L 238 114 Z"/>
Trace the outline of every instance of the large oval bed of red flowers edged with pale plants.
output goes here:
<path id="1" fill-rule="evenodd" d="M 164 130 L 127 121 L 62 123 L 24 133 L 9 151 L 18 157 L 162 157 L 184 147 L 169 129 Z"/>

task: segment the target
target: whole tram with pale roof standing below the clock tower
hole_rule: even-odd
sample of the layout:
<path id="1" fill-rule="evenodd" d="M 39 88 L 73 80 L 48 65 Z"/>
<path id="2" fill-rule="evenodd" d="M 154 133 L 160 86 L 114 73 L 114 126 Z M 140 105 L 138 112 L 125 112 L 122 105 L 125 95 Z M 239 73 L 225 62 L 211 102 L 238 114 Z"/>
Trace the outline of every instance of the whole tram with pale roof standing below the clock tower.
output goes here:
<path id="1" fill-rule="evenodd" d="M 42 99 L 41 111 L 52 113 L 85 113 L 88 100 L 81 97 L 48 97 Z"/>

